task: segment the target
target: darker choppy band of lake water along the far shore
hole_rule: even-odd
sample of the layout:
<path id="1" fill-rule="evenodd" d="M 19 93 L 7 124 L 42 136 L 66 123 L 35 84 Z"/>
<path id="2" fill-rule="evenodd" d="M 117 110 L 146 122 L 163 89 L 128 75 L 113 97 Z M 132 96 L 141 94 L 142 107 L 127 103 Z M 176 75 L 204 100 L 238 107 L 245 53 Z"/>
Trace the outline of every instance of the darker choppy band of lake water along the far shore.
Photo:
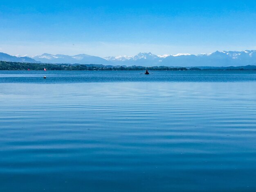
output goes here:
<path id="1" fill-rule="evenodd" d="M 0 71 L 1 83 L 247 82 L 256 71 Z M 141 74 L 143 73 L 143 74 Z M 47 78 L 42 80 L 43 76 Z"/>

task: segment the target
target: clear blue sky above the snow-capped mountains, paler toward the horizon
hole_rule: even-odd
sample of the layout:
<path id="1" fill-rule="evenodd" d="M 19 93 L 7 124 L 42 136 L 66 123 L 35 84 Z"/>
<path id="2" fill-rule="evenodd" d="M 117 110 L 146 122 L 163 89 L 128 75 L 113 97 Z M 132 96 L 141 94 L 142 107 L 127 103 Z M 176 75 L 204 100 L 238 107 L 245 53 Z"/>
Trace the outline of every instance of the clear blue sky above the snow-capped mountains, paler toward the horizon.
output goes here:
<path id="1" fill-rule="evenodd" d="M 0 52 L 96 56 L 256 49 L 256 1 L 0 0 Z"/>

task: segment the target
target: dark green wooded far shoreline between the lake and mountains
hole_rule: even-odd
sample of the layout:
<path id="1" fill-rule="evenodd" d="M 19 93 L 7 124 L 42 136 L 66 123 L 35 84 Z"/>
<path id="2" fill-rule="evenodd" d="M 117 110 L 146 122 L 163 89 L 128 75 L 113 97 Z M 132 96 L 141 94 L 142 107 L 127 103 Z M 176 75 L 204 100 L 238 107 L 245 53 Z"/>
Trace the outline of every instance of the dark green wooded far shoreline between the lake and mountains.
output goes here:
<path id="1" fill-rule="evenodd" d="M 49 64 L 0 61 L 1 71 L 256 71 L 256 65 L 230 67 L 166 67 L 166 66 L 112 66 L 97 64 Z"/>

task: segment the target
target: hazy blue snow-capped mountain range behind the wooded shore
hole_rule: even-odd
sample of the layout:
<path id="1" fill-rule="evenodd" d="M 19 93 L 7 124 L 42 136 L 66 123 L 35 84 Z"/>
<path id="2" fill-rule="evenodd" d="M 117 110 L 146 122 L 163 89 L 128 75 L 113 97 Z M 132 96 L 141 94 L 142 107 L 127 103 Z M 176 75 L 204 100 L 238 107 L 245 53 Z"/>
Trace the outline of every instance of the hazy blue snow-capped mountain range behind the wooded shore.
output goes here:
<path id="1" fill-rule="evenodd" d="M 102 64 L 102 65 L 140 65 L 140 66 L 179 66 L 179 67 L 227 67 L 254 65 L 256 50 L 216 51 L 211 54 L 165 54 L 139 53 L 135 56 L 97 57 L 86 54 L 74 56 L 42 54 L 33 57 L 11 56 L 0 53 L 0 60 L 27 63 L 68 63 L 68 64 Z"/>

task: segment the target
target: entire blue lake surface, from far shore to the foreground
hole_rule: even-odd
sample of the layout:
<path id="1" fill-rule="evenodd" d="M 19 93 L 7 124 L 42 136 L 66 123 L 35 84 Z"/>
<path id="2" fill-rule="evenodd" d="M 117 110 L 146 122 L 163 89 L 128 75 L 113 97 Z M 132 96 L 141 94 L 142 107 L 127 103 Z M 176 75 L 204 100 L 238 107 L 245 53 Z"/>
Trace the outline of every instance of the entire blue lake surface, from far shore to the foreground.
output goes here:
<path id="1" fill-rule="evenodd" d="M 0 191 L 256 191 L 256 71 L 141 72 L 0 71 Z"/>

